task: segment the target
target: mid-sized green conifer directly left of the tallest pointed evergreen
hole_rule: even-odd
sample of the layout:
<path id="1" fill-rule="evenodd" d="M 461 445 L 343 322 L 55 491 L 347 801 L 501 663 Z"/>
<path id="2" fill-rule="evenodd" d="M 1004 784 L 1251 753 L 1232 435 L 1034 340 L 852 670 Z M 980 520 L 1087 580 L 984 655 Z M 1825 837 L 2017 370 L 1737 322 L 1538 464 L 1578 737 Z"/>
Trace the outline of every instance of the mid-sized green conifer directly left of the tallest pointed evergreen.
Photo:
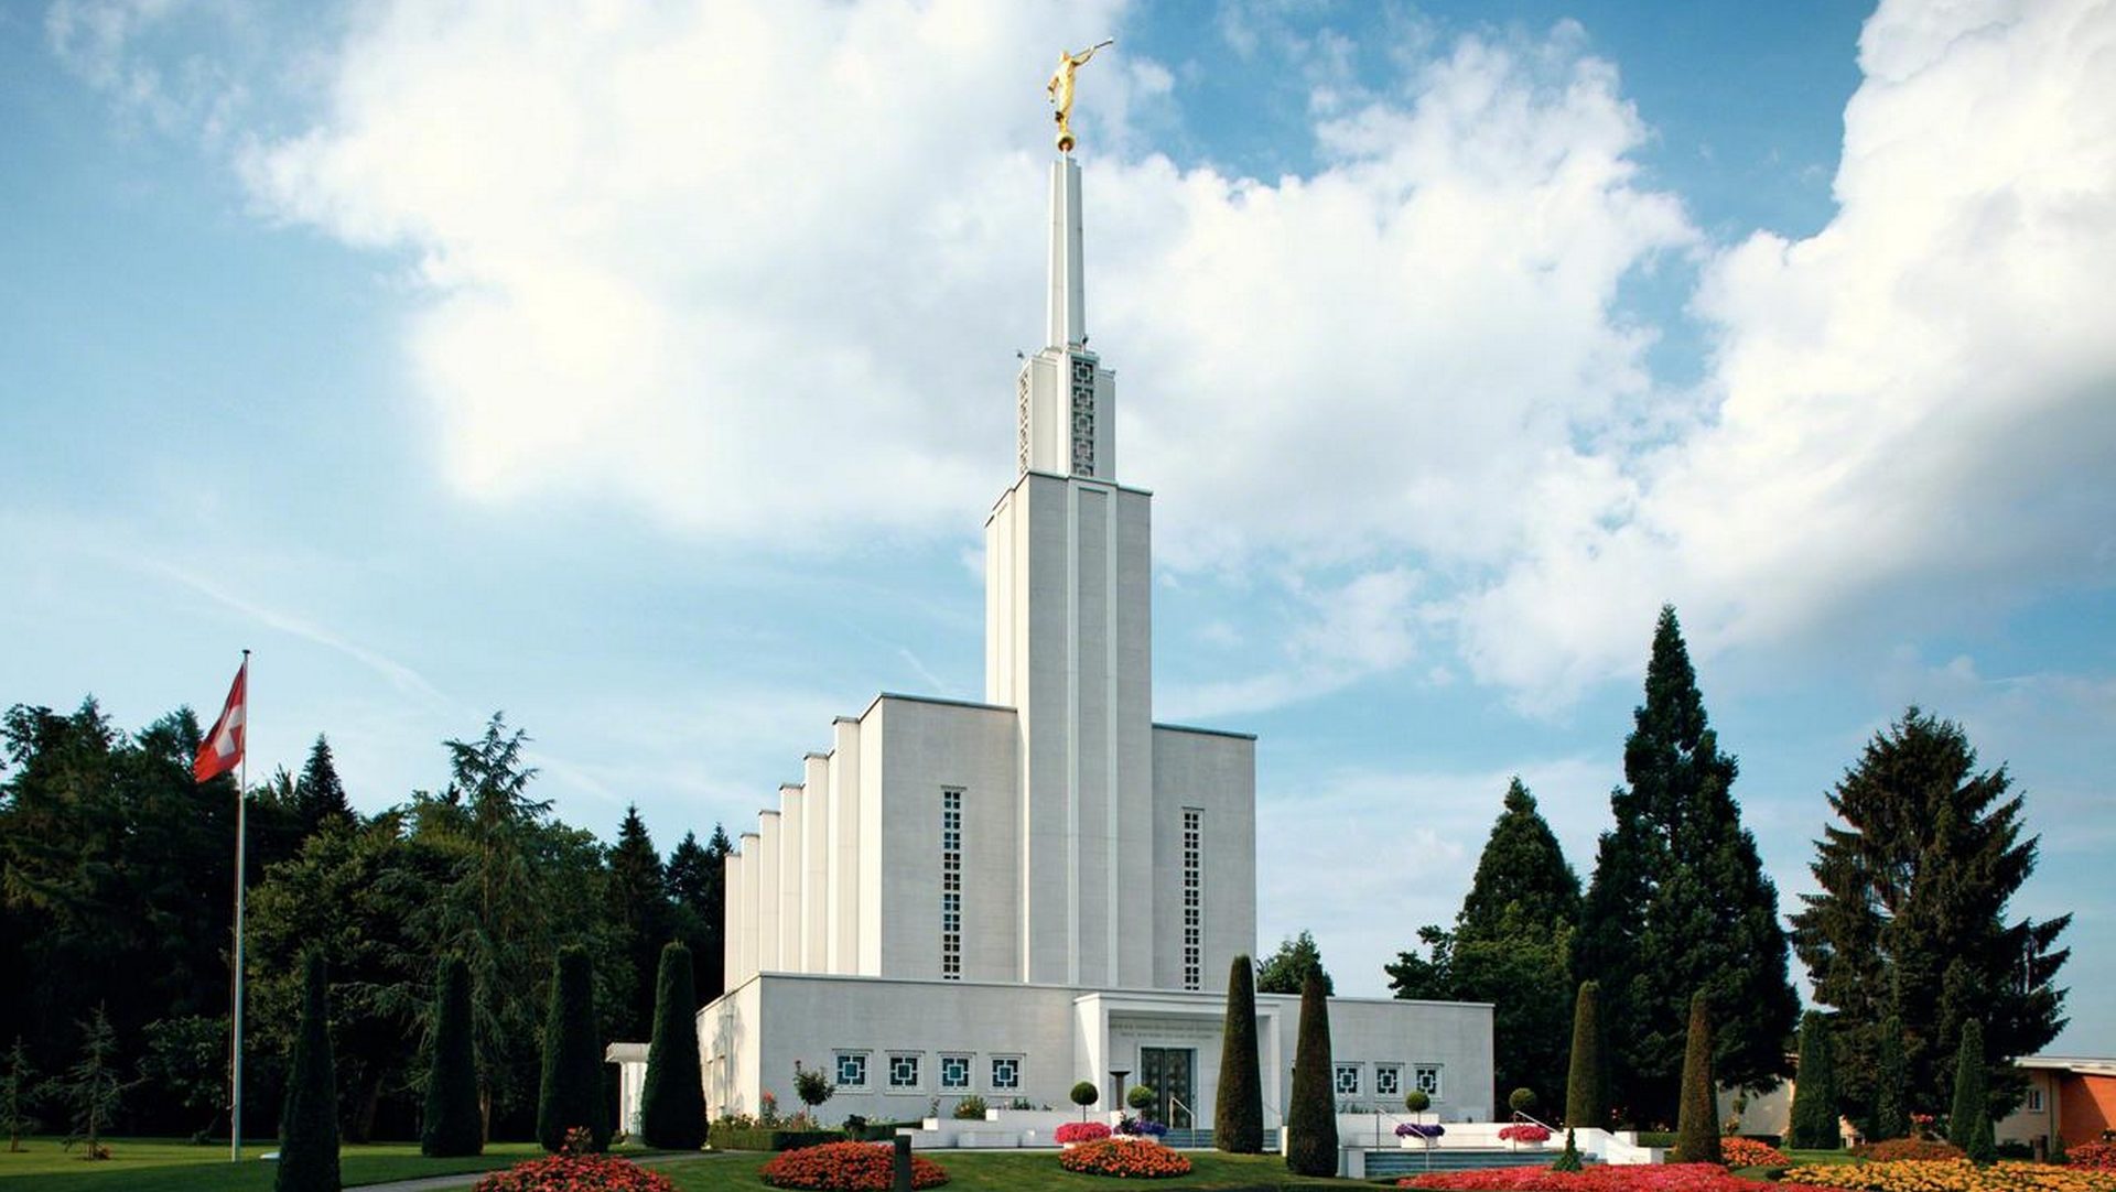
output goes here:
<path id="1" fill-rule="evenodd" d="M 1564 1078 L 1572 1004 L 1570 949 L 1581 883 L 1536 799 L 1515 778 L 1477 858 L 1477 877 L 1452 932 L 1420 928 L 1430 957 L 1384 966 L 1397 998 L 1492 1002 L 1498 1088 L 1555 1093 Z"/>

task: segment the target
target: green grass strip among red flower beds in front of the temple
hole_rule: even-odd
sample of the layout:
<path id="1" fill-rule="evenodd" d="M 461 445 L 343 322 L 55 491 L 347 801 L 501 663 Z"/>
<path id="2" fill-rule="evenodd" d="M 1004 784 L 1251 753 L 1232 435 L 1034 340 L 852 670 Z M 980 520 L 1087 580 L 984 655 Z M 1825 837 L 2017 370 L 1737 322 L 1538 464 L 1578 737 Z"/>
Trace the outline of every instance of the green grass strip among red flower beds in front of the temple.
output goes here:
<path id="1" fill-rule="evenodd" d="M 1191 1173 L 1179 1179 L 1107 1179 L 1098 1175 L 1075 1175 L 1058 1167 L 1054 1150 L 925 1150 L 925 1158 L 948 1169 L 946 1192 L 1124 1192 L 1128 1188 L 1168 1188 L 1170 1192 L 1278 1192 L 1282 1188 L 1325 1190 L 1365 1188 L 1373 1184 L 1358 1179 L 1306 1179 L 1287 1173 L 1287 1160 L 1276 1154 L 1219 1154 L 1210 1150 L 1187 1150 Z M 766 1188 L 758 1169 L 770 1160 L 768 1154 L 726 1154 L 715 1158 L 686 1158 L 656 1165 L 654 1171 L 667 1175 L 683 1192 L 758 1192 Z"/>

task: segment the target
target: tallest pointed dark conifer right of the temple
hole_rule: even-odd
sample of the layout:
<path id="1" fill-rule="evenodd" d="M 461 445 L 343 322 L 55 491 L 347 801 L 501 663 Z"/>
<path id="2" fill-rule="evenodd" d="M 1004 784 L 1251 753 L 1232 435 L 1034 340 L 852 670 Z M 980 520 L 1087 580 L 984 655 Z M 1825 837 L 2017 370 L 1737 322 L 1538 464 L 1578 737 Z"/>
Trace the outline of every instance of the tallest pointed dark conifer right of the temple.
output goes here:
<path id="1" fill-rule="evenodd" d="M 1799 1010 L 1777 888 L 1741 826 L 1737 765 L 1705 719 L 1672 607 L 1653 634 L 1623 774 L 1572 960 L 1602 987 L 1619 1112 L 1655 1122 L 1676 1107 L 1684 1050 L 1676 1023 L 1693 991 L 1727 1012 L 1714 1057 L 1727 1084 L 1775 1084 Z"/>

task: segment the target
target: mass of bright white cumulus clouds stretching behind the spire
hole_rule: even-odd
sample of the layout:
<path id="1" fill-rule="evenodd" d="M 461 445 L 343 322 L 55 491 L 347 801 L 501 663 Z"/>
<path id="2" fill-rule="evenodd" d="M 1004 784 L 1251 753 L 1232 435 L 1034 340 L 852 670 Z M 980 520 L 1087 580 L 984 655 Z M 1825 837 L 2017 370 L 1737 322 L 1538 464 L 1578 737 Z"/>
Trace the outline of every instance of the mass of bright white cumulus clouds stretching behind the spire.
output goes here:
<path id="1" fill-rule="evenodd" d="M 320 116 L 243 171 L 413 262 L 406 374 L 470 499 L 806 550 L 973 533 L 1041 325 L 1020 46 L 1109 27 L 1077 120 L 1126 480 L 1168 566 L 1346 577 L 1282 581 L 1312 630 L 1193 710 L 1449 657 L 1562 704 L 1636 670 L 1661 600 L 1712 653 L 2116 564 L 2116 486 L 2082 480 L 2116 446 L 2105 6 L 1885 4 L 1839 216 L 1720 247 L 1642 180 L 1653 131 L 1572 23 L 1405 23 L 1384 78 L 1318 34 L 1320 165 L 1259 180 L 1138 135 L 1185 72 L 1126 57 L 1115 2 L 353 19 Z M 1674 393 L 1619 287 L 1689 262 L 1714 355 Z"/>

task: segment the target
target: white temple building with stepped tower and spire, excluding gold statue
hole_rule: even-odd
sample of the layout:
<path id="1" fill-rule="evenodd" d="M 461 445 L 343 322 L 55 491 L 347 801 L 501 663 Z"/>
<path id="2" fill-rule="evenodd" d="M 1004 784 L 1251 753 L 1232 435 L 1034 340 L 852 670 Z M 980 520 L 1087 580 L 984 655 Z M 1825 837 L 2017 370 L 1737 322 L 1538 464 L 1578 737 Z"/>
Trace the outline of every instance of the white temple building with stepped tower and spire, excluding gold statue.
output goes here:
<path id="1" fill-rule="evenodd" d="M 728 987 L 698 1010 L 709 1116 L 798 1107 L 800 1063 L 836 1082 L 832 1122 L 1071 1110 L 1079 1080 L 1111 1110 L 1119 1072 L 1160 1120 L 1212 1122 L 1229 964 L 1257 949 L 1257 740 L 1153 721 L 1153 499 L 1117 480 L 1071 156 L 1050 209 L 1047 347 L 984 522 L 984 702 L 876 695 L 741 835 Z M 1276 1126 L 1299 1000 L 1257 1019 Z M 1424 1088 L 1443 1120 L 1492 1116 L 1485 1004 L 1335 998 L 1331 1038 L 1339 1103 Z"/>

